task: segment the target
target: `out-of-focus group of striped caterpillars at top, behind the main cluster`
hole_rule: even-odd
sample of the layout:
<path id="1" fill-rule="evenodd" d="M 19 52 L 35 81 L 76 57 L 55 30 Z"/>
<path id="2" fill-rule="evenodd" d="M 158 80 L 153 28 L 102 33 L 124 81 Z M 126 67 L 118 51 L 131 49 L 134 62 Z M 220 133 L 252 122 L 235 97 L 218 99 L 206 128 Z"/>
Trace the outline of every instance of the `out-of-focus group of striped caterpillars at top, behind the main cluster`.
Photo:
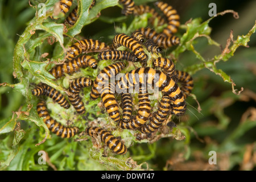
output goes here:
<path id="1" fill-rule="evenodd" d="M 132 0 L 120 0 L 123 5 L 122 14 L 125 15 L 142 15 L 145 13 L 150 13 L 152 16 L 149 18 L 149 22 L 154 24 L 155 20 L 157 26 L 162 26 L 167 23 L 167 27 L 164 28 L 162 32 L 157 33 L 154 28 L 140 28 L 137 32 L 141 32 L 144 38 L 151 39 L 150 44 L 154 46 L 160 46 L 163 48 L 168 48 L 176 46 L 180 43 L 179 37 L 174 34 L 177 32 L 180 26 L 180 16 L 177 14 L 177 11 L 168 3 L 156 2 L 155 6 L 162 12 L 164 17 L 160 15 L 154 8 L 148 5 L 134 5 Z M 167 20 L 166 20 L 167 19 Z M 152 50 L 150 50 L 152 51 Z"/>

